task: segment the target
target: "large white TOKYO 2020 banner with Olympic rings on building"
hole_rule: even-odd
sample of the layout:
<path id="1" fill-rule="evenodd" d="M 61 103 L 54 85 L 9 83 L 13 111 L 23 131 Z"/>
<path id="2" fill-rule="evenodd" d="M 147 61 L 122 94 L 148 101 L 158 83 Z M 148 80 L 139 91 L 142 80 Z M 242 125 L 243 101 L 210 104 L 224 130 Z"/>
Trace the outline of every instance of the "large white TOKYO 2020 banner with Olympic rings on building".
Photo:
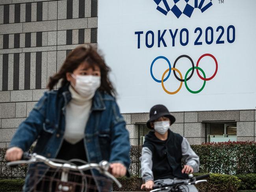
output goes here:
<path id="1" fill-rule="evenodd" d="M 256 0 L 99 0 L 98 48 L 121 112 L 255 109 L 255 8 Z"/>

